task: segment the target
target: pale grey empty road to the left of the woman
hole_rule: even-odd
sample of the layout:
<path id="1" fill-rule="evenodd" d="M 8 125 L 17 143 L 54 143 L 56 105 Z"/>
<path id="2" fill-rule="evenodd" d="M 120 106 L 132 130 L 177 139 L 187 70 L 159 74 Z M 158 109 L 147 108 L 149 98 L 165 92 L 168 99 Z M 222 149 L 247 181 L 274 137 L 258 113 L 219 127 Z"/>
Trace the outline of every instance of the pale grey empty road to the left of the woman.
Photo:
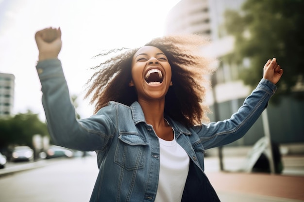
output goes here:
<path id="1" fill-rule="evenodd" d="M 0 177 L 0 202 L 88 202 L 98 173 L 96 157 L 58 160 Z"/>

